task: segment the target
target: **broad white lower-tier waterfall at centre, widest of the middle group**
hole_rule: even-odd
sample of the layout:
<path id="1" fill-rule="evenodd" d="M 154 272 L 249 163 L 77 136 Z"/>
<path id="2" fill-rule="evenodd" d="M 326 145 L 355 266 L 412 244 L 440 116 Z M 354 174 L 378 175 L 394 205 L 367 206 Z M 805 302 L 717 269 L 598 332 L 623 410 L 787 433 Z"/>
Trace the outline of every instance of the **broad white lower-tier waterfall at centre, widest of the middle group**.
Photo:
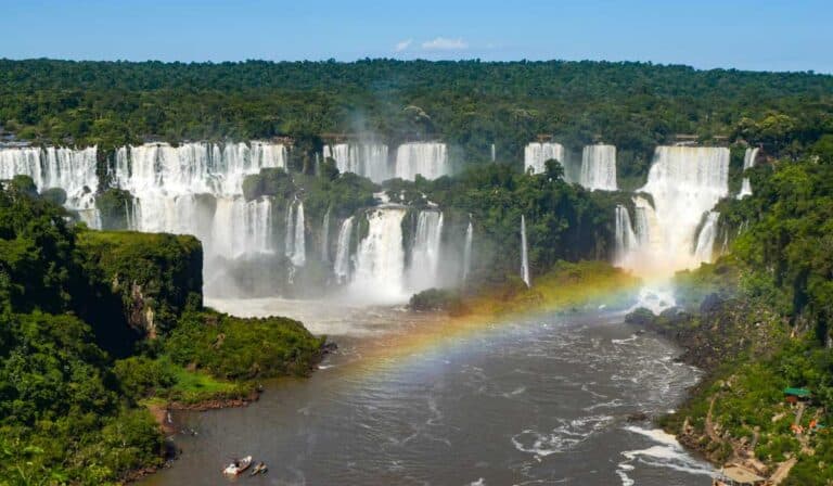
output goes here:
<path id="1" fill-rule="evenodd" d="M 407 297 L 402 285 L 405 251 L 402 218 L 399 207 L 368 212 L 368 235 L 356 253 L 356 273 L 350 284 L 356 298 L 396 303 Z"/>

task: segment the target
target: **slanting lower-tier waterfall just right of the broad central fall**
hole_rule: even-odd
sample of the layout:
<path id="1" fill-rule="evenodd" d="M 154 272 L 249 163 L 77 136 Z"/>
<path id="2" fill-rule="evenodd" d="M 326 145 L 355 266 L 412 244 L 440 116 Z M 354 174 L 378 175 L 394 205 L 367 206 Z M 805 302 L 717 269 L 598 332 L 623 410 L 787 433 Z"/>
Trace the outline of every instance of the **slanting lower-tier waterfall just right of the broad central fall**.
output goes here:
<path id="1" fill-rule="evenodd" d="M 441 240 L 443 213 L 421 210 L 411 250 L 410 291 L 420 292 L 436 285 Z"/>

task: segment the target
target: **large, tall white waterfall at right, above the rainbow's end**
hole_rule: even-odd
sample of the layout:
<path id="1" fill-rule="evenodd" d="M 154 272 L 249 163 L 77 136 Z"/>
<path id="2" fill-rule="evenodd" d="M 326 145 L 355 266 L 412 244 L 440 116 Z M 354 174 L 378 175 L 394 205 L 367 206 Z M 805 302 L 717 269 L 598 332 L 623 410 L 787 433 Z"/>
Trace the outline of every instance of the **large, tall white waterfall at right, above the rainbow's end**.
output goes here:
<path id="1" fill-rule="evenodd" d="M 700 265 L 706 254 L 697 255 L 696 242 L 708 235 L 696 230 L 703 214 L 728 194 L 728 149 L 658 146 L 648 183 L 638 191 L 651 194 L 653 205 L 633 197 L 638 245 L 619 246 L 616 254 L 627 254 L 623 261 L 640 274 L 669 276 Z"/>

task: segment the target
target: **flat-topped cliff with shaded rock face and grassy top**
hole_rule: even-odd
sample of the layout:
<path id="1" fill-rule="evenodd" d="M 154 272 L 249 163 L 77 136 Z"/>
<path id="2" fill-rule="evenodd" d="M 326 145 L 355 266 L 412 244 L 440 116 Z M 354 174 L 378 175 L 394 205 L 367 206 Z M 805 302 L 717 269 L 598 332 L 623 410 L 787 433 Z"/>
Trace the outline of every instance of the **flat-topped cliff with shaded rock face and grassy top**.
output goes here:
<path id="1" fill-rule="evenodd" d="M 81 314 L 105 335 L 120 327 L 154 338 L 202 306 L 203 248 L 193 236 L 87 231 L 77 251 L 91 287 Z"/>

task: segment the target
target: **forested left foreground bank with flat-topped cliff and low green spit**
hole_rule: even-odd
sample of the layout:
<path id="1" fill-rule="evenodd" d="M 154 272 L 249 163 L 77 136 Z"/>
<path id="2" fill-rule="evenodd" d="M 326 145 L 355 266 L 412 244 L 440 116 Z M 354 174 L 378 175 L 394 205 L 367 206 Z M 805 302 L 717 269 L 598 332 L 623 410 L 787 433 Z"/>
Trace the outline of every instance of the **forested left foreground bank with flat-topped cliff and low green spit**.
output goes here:
<path id="1" fill-rule="evenodd" d="M 299 322 L 203 308 L 196 239 L 68 221 L 31 179 L 0 183 L 0 484 L 158 466 L 149 407 L 244 399 L 253 380 L 319 359 L 322 340 Z"/>

